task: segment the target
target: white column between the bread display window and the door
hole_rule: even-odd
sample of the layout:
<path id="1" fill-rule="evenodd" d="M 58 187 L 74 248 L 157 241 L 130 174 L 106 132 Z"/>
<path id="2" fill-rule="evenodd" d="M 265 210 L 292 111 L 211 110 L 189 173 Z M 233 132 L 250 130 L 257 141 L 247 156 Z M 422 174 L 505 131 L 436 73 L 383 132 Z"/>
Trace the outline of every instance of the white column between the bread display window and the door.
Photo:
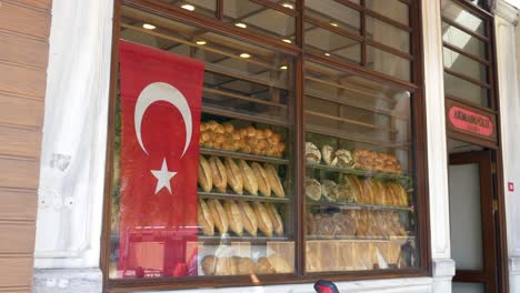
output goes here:
<path id="1" fill-rule="evenodd" d="M 450 259 L 450 210 L 444 118 L 444 65 L 440 1 L 422 0 L 424 89 L 428 132 L 432 292 L 450 293 L 454 262 Z"/>

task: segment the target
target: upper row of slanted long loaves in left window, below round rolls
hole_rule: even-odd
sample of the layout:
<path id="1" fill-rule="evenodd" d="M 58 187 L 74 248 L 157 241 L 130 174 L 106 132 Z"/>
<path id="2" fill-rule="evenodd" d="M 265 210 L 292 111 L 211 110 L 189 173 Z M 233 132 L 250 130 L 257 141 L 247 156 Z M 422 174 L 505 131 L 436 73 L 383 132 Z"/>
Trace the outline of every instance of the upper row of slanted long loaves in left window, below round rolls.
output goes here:
<path id="1" fill-rule="evenodd" d="M 278 198 L 286 196 L 278 170 L 269 163 L 249 164 L 241 159 L 224 158 L 222 161 L 218 156 L 206 159 L 201 155 L 198 182 L 204 192 L 214 188 L 218 192 L 226 193 L 229 186 L 237 194 L 247 191 L 252 195 L 271 196 L 273 193 Z"/>

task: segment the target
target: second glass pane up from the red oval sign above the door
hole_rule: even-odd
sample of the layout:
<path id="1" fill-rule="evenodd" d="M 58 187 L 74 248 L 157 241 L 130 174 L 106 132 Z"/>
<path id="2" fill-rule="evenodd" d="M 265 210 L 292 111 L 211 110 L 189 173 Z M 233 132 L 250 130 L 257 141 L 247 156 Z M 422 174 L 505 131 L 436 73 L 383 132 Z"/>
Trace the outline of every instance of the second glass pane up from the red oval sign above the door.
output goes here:
<path id="1" fill-rule="evenodd" d="M 468 75 L 482 82 L 488 82 L 488 67 L 463 54 L 443 48 L 444 68 Z"/>

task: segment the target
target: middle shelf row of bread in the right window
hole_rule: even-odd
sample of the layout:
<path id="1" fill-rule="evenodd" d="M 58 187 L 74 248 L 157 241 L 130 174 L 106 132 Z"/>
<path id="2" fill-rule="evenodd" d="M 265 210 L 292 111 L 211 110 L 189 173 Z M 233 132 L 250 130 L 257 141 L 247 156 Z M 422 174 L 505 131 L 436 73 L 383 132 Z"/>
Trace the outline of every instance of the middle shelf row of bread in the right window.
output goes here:
<path id="1" fill-rule="evenodd" d="M 306 178 L 306 195 L 312 201 L 408 206 L 408 193 L 401 184 L 353 175 L 341 178 L 340 183 Z"/>

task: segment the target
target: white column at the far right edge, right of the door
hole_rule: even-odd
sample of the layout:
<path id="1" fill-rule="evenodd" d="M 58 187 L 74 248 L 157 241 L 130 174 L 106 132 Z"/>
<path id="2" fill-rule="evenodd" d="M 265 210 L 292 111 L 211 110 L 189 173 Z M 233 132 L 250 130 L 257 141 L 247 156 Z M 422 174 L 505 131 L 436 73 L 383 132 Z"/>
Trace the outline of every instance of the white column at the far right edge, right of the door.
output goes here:
<path id="1" fill-rule="evenodd" d="M 500 98 L 501 144 L 509 255 L 510 292 L 520 292 L 520 99 L 517 60 L 520 58 L 520 32 L 516 30 L 518 10 L 506 1 L 497 1 L 494 29 L 497 39 L 497 69 Z M 516 41 L 517 40 L 517 41 Z M 516 191 L 508 191 L 508 182 Z"/>

